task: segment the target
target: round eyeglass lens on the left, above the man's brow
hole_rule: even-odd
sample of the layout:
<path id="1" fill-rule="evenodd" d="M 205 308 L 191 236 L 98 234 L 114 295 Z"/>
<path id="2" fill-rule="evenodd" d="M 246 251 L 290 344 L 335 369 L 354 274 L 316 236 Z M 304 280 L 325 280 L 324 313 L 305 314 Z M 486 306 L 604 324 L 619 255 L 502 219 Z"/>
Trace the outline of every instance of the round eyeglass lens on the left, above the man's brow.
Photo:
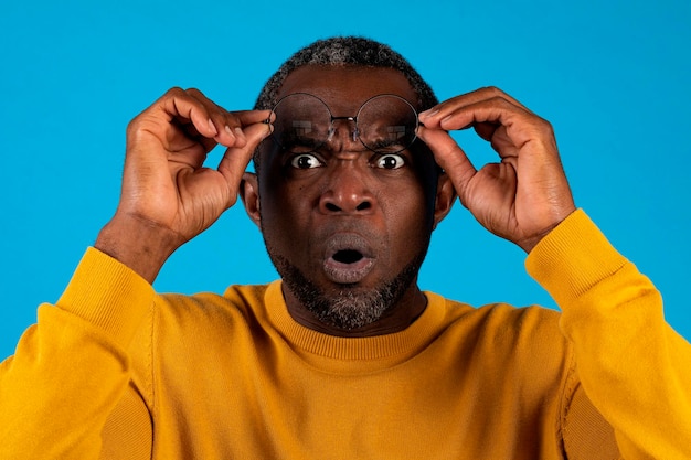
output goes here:
<path id="1" fill-rule="evenodd" d="M 327 141 L 331 127 L 329 107 L 307 93 L 281 98 L 274 107 L 276 118 L 272 136 L 289 152 L 310 152 Z"/>

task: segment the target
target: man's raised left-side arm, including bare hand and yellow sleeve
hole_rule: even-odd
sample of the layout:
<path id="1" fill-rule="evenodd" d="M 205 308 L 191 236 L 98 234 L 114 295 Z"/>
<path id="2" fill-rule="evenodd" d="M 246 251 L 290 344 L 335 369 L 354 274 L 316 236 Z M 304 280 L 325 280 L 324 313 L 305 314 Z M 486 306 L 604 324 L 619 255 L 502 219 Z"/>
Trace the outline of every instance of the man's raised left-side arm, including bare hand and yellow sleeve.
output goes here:
<path id="1" fill-rule="evenodd" d="M 146 355 L 132 344 L 146 349 L 151 336 L 150 282 L 235 203 L 268 116 L 174 88 L 132 120 L 120 203 L 99 250 L 87 250 L 56 304 L 39 308 L 38 324 L 0 363 L 0 458 L 149 458 L 150 363 L 132 364 L 134 353 Z M 205 168 L 217 143 L 227 150 Z"/>

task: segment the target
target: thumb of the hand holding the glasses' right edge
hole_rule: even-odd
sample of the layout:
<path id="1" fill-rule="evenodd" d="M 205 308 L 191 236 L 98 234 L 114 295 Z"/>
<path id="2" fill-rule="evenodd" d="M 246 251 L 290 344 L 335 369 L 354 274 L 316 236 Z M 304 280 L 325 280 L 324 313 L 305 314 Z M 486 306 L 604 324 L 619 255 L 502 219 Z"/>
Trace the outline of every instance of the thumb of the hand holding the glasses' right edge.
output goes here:
<path id="1" fill-rule="evenodd" d="M 429 147 L 437 164 L 448 174 L 461 203 L 466 203 L 468 183 L 477 170 L 448 132 L 422 127 L 418 137 Z"/>

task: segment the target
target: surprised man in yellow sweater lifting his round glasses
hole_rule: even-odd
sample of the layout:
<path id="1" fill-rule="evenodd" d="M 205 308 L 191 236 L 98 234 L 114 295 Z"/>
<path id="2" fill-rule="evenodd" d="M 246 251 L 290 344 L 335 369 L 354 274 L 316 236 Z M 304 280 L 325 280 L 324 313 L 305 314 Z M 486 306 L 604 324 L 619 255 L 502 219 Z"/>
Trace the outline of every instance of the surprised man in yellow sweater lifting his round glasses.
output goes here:
<path id="1" fill-rule="evenodd" d="M 575 208 L 546 121 L 496 88 L 437 105 L 353 38 L 298 52 L 257 106 L 171 89 L 129 125 L 115 216 L 2 364 L 3 458 L 691 458 L 691 347 Z M 468 127 L 499 163 L 470 164 L 447 133 Z M 238 195 L 281 281 L 156 295 Z M 561 315 L 419 290 L 456 196 Z"/>

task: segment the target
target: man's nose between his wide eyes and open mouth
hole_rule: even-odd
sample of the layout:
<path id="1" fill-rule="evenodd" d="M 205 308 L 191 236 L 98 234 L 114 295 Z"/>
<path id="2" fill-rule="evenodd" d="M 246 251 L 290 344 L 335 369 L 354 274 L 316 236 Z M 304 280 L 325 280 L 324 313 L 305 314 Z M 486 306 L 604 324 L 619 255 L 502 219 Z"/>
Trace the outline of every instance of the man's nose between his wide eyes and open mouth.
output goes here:
<path id="1" fill-rule="evenodd" d="M 374 194 L 368 185 L 366 172 L 354 161 L 342 161 L 327 174 L 327 184 L 319 199 L 323 214 L 366 215 L 375 205 Z"/>

